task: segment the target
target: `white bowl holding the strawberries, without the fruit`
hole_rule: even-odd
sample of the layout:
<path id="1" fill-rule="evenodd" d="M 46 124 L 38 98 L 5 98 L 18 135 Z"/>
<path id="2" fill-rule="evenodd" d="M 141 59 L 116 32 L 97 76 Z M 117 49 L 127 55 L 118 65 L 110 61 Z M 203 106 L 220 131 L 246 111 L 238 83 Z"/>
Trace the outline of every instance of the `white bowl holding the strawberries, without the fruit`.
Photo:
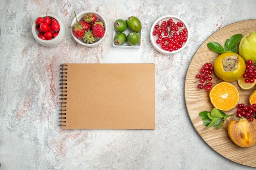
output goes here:
<path id="1" fill-rule="evenodd" d="M 77 18 L 78 22 L 80 22 L 83 20 L 83 16 L 87 13 L 94 13 L 97 16 L 97 20 L 102 21 L 104 23 L 104 30 L 105 30 L 104 36 L 101 39 L 96 40 L 96 42 L 94 42 L 93 44 L 86 44 L 85 42 L 83 42 L 83 39 L 76 38 L 72 32 L 72 27 L 71 27 L 72 25 L 74 25 L 76 23 L 76 18 Z M 79 14 L 76 14 L 76 17 L 74 17 L 74 19 L 71 23 L 71 26 L 70 26 L 71 27 L 70 31 L 72 33 L 73 38 L 76 40 L 76 42 L 78 42 L 79 44 L 81 44 L 83 46 L 87 46 L 87 47 L 99 46 L 99 44 L 104 40 L 104 38 L 106 37 L 106 34 L 107 34 L 107 22 L 106 22 L 105 18 L 100 13 L 98 13 L 96 11 L 83 11 Z"/>

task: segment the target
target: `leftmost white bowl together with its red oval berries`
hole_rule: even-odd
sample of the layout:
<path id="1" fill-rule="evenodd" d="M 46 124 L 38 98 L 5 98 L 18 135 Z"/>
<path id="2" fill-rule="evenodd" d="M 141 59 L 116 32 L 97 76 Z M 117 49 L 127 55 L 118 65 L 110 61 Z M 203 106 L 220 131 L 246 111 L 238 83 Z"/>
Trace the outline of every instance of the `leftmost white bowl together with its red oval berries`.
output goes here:
<path id="1" fill-rule="evenodd" d="M 56 15 L 46 13 L 34 20 L 32 34 L 36 41 L 42 45 L 56 46 L 64 40 L 66 30 L 61 19 Z"/>

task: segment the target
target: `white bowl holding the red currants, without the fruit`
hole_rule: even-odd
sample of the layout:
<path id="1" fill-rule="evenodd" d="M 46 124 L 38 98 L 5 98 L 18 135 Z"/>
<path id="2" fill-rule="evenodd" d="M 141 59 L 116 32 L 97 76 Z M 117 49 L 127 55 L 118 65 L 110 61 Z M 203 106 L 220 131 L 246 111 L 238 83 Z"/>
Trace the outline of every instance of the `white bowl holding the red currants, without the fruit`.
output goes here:
<path id="1" fill-rule="evenodd" d="M 184 44 L 182 45 L 182 47 L 180 49 L 177 49 L 175 51 L 166 51 L 164 49 L 161 48 L 161 45 L 160 44 L 157 44 L 156 43 L 156 40 L 158 39 L 158 36 L 157 35 L 153 35 L 153 31 L 155 29 L 155 25 L 159 22 L 159 21 L 167 21 L 169 18 L 172 18 L 173 19 L 173 22 L 175 22 L 177 24 L 177 22 L 182 22 L 183 25 L 184 25 L 184 28 L 186 28 L 188 31 L 187 31 L 187 37 L 186 37 L 186 42 L 184 42 Z M 177 17 L 177 16 L 174 16 L 174 15 L 165 15 L 165 16 L 162 16 L 160 18 L 158 18 L 154 24 L 152 25 L 151 27 L 151 30 L 150 30 L 150 41 L 151 41 L 151 44 L 153 45 L 153 47 L 160 53 L 163 53 L 163 54 L 166 54 L 166 55 L 173 55 L 175 53 L 178 53 L 180 51 L 182 51 L 186 45 L 189 43 L 189 38 L 190 38 L 190 31 L 189 31 L 189 26 L 188 24 L 186 24 L 186 22 L 184 20 L 182 20 L 180 17 Z"/>

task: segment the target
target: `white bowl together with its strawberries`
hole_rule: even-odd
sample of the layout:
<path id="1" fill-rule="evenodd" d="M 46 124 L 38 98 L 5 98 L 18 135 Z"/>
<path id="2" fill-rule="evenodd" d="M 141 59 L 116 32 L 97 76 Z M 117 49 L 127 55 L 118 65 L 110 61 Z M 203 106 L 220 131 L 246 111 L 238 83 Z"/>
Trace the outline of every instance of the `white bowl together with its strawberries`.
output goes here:
<path id="1" fill-rule="evenodd" d="M 71 33 L 79 44 L 87 47 L 98 46 L 106 37 L 107 22 L 96 11 L 83 11 L 71 23 Z"/>

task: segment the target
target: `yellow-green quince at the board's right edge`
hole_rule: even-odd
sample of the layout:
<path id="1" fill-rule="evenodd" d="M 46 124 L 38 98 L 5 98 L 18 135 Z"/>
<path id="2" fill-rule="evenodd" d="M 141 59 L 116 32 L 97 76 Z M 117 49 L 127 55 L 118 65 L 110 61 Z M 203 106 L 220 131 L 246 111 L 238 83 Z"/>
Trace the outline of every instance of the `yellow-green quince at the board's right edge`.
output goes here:
<path id="1" fill-rule="evenodd" d="M 243 36 L 238 46 L 238 52 L 247 62 L 252 60 L 256 64 L 256 31 L 249 32 Z"/>

